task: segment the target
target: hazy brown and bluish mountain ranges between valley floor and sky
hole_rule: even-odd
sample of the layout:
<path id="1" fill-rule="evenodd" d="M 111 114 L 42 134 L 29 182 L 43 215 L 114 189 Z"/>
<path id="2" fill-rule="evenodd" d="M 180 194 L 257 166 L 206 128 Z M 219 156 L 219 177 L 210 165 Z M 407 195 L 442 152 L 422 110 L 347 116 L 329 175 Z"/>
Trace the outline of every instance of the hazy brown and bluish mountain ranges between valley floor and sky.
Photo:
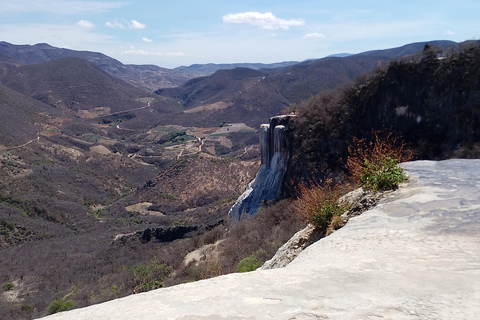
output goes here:
<path id="1" fill-rule="evenodd" d="M 112 112 L 135 109 L 141 105 L 136 98 L 151 96 L 148 91 L 163 87 L 156 91 L 157 102 L 152 105 L 155 112 L 143 114 L 131 122 L 136 128 L 147 125 L 145 121 L 187 126 L 244 122 L 258 127 L 283 108 L 322 90 L 348 83 L 392 59 L 418 53 L 426 43 L 300 63 L 195 64 L 165 69 L 155 65 L 124 65 L 101 53 L 55 48 L 48 44 L 30 46 L 0 42 L 0 64 L 4 66 L 0 78 L 4 85 L 53 106 L 67 109 L 111 107 Z M 439 48 L 455 44 L 451 41 L 428 43 Z M 78 60 L 63 60 L 72 65 L 63 62 L 62 66 L 60 58 Z M 96 68 L 82 64 L 80 59 Z M 126 83 L 108 78 L 101 71 Z M 56 79 L 51 78 L 53 74 L 57 75 Z M 77 85 L 67 90 L 65 85 L 69 81 Z M 134 90 L 127 84 L 147 88 L 147 91 Z"/>

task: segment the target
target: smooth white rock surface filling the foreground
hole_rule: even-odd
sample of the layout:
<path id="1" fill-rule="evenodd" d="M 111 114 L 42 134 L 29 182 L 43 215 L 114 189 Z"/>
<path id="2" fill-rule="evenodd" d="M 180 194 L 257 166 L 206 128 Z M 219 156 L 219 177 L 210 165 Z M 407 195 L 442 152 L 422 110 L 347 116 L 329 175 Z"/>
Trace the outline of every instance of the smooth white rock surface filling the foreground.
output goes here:
<path id="1" fill-rule="evenodd" d="M 150 291 L 60 319 L 480 319 L 480 161 L 402 186 L 285 268 Z"/>

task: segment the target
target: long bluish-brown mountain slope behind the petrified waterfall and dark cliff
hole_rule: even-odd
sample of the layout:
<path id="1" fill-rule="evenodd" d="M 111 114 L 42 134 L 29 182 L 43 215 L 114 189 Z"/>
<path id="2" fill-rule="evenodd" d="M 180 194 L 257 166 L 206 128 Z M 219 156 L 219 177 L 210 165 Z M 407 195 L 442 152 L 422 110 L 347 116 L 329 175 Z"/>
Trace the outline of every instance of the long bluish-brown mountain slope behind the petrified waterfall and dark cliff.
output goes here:
<path id="1" fill-rule="evenodd" d="M 446 48 L 454 43 L 437 41 L 433 44 Z M 415 43 L 275 69 L 220 70 L 178 88 L 160 89 L 156 93 L 180 101 L 185 114 L 174 120 L 177 124 L 211 126 L 221 121 L 241 121 L 258 127 L 266 118 L 292 103 L 347 84 L 378 65 L 421 51 L 424 46 L 425 43 Z M 188 113 L 195 113 L 195 118 L 190 119 Z"/>

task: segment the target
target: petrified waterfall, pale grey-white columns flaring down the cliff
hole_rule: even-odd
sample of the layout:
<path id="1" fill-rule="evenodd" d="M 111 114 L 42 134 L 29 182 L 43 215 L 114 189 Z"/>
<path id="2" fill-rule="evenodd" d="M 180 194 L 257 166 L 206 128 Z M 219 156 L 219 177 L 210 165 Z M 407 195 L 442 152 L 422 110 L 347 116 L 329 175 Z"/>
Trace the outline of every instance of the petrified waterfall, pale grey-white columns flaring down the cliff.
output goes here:
<path id="1" fill-rule="evenodd" d="M 252 215 L 263 201 L 279 198 L 290 158 L 286 125 L 291 117 L 273 117 L 270 124 L 260 126 L 260 169 L 228 212 L 229 217 L 238 220 L 244 213 Z"/>

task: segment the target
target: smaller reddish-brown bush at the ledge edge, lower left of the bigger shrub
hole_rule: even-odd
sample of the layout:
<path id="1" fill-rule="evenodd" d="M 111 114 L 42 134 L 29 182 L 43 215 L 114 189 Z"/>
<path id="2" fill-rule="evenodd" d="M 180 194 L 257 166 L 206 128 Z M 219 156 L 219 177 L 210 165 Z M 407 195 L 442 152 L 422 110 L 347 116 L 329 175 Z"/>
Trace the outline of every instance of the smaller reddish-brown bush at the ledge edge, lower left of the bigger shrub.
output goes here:
<path id="1" fill-rule="evenodd" d="M 339 202 L 339 186 L 332 186 L 330 180 L 312 187 L 300 184 L 298 191 L 299 197 L 294 204 L 298 213 L 321 232 L 326 232 L 332 219 L 347 210 L 346 205 Z"/>

